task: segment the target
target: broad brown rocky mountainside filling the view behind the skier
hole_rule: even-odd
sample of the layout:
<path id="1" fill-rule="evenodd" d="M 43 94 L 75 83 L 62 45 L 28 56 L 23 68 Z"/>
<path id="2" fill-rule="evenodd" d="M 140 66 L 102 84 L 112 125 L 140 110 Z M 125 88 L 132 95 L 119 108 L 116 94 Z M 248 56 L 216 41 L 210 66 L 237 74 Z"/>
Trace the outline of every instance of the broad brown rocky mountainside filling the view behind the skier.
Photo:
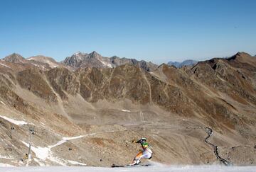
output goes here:
<path id="1" fill-rule="evenodd" d="M 23 166 L 18 160 L 27 152 L 28 128 L 35 127 L 31 165 L 129 164 L 139 150 L 131 141 L 139 137 L 149 139 L 152 161 L 218 164 L 204 141 L 210 127 L 208 141 L 219 156 L 256 164 L 255 57 L 238 52 L 151 72 L 110 59 L 117 66 L 107 67 L 108 58 L 96 52 L 78 53 L 64 62 L 75 71 L 1 60 L 0 162 Z M 86 67 L 85 61 L 101 66 Z"/>

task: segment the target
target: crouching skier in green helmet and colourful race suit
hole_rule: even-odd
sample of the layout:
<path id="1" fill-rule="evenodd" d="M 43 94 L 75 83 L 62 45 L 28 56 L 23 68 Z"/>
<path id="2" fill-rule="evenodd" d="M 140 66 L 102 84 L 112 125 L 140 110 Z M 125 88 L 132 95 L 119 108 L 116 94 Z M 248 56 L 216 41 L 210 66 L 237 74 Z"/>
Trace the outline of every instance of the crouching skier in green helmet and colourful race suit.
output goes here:
<path id="1" fill-rule="evenodd" d="M 132 142 L 141 144 L 143 150 L 139 151 L 139 154 L 135 156 L 132 164 L 129 164 L 129 166 L 138 165 L 140 163 L 140 159 L 151 159 L 153 151 L 149 149 L 149 144 L 146 142 L 146 138 L 142 137 L 142 139 L 139 139 L 138 141 L 133 140 Z"/>

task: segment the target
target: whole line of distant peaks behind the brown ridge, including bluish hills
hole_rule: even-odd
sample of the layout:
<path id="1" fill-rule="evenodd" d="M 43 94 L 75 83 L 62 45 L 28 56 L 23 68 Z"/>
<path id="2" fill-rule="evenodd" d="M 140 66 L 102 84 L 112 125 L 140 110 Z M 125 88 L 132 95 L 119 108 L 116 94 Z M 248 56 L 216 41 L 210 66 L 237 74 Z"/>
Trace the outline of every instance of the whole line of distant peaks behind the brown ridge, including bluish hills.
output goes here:
<path id="1" fill-rule="evenodd" d="M 154 71 L 158 65 L 152 62 L 146 62 L 144 60 L 129 59 L 125 57 L 102 57 L 102 55 L 93 51 L 91 53 L 76 52 L 70 57 L 66 57 L 62 62 L 56 62 L 52 57 L 45 57 L 43 55 L 28 57 L 27 59 L 13 53 L 12 55 L 4 57 L 4 61 L 13 63 L 26 63 L 31 65 L 38 65 L 42 69 L 50 69 L 54 67 L 67 67 L 68 69 L 75 70 L 79 68 L 86 67 L 96 67 L 96 68 L 114 68 L 123 64 L 138 65 L 146 71 Z M 196 64 L 195 60 L 185 60 L 183 62 L 169 62 L 169 65 L 174 65 L 175 67 L 188 66 L 191 67 Z"/>

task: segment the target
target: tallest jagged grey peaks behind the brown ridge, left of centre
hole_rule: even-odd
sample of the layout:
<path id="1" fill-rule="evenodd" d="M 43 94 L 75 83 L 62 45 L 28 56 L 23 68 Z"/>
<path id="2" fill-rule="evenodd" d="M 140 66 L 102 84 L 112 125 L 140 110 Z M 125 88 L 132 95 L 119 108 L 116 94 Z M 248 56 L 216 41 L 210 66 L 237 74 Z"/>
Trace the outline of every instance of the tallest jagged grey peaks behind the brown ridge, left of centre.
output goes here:
<path id="1" fill-rule="evenodd" d="M 127 59 L 119 58 L 117 56 L 113 57 L 102 57 L 102 55 L 97 52 L 91 52 L 90 54 L 77 52 L 71 57 L 67 57 L 63 64 L 75 67 L 75 68 L 85 68 L 85 67 L 96 67 L 96 68 L 114 68 L 123 64 L 134 64 L 139 65 L 142 69 L 146 71 L 153 71 L 156 69 L 157 65 L 151 62 L 145 62 L 144 60 L 138 61 L 137 59 Z"/>

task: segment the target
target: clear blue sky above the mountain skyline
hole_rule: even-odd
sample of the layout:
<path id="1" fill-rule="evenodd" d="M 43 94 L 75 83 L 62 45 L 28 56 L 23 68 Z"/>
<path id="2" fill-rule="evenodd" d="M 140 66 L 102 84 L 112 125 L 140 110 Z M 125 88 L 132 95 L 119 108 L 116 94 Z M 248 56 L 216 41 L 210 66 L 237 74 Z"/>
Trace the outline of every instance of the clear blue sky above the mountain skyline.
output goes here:
<path id="1" fill-rule="evenodd" d="M 93 50 L 156 64 L 256 55 L 256 1 L 0 1 L 0 58 Z"/>

